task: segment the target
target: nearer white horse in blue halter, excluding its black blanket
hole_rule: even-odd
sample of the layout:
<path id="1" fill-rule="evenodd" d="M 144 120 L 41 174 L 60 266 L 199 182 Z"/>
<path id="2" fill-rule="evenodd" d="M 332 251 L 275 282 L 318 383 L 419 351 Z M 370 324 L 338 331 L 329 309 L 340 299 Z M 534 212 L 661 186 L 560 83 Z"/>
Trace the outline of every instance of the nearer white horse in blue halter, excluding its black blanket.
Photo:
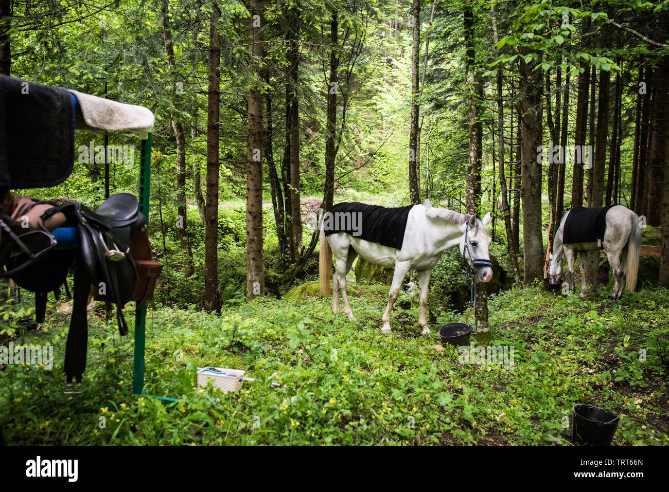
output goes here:
<path id="1" fill-rule="evenodd" d="M 320 226 L 320 291 L 324 297 L 329 294 L 332 253 L 337 261 L 337 271 L 332 275 L 332 312 L 339 313 L 339 292 L 344 299 L 344 314 L 355 320 L 346 293 L 346 275 L 353 266 L 353 260 L 360 255 L 365 261 L 384 267 L 395 267 L 393 281 L 388 295 L 388 305 L 381 320 L 382 333 L 390 333 L 390 312 L 399 295 L 399 289 L 409 269 L 418 271 L 420 315 L 418 324 L 421 334 L 429 333 L 425 310 L 427 305 L 427 284 L 432 268 L 447 249 L 460 245 L 460 252 L 474 270 L 475 279 L 488 282 L 492 279 L 492 263 L 488 256 L 490 233 L 486 226 L 490 213 L 482 221 L 474 215 L 464 215 L 448 209 L 432 207 L 429 201 L 414 205 L 407 219 L 402 249 L 395 249 L 364 241 L 353 235 L 339 232 L 325 235 Z M 363 225 L 364 226 L 364 225 Z M 484 265 L 484 266 L 481 266 Z"/>

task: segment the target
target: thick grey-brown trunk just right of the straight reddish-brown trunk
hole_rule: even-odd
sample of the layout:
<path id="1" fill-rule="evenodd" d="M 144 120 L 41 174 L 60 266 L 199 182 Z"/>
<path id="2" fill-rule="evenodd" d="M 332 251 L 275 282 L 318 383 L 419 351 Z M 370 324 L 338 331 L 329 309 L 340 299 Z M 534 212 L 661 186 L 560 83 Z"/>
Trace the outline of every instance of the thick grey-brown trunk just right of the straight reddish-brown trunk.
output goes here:
<path id="1" fill-rule="evenodd" d="M 249 70 L 256 77 L 249 90 L 248 145 L 246 149 L 246 298 L 265 293 L 265 269 L 262 259 L 262 87 L 260 58 L 262 49 L 262 0 L 249 0 L 251 62 Z"/>

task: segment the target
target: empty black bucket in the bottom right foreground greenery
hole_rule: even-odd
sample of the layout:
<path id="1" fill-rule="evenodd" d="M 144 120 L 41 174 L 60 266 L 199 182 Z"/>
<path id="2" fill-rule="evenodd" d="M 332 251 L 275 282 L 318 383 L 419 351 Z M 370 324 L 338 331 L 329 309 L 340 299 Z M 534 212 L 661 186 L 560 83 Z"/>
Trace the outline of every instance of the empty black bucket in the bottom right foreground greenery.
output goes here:
<path id="1" fill-rule="evenodd" d="M 620 414 L 597 405 L 576 404 L 571 416 L 571 439 L 582 446 L 608 446 Z"/>

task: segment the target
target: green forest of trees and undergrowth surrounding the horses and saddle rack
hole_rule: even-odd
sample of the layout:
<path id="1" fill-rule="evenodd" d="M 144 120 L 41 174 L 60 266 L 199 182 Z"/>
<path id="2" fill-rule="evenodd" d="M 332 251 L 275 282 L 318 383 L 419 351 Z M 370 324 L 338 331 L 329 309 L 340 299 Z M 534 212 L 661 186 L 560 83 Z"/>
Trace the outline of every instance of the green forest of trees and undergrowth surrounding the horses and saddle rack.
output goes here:
<path id="1" fill-rule="evenodd" d="M 669 444 L 669 1 L 0 0 L 0 74 L 155 115 L 147 390 L 179 398 L 104 407 L 120 420 L 95 427 L 132 373 L 96 303 L 82 423 L 50 428 L 66 418 L 47 400 L 64 401 L 68 299 L 50 294 L 35 329 L 33 294 L 0 279 L 0 344 L 57 348 L 47 375 L 0 371 L 8 443 L 569 445 L 565 409 L 615 400 L 615 444 Z M 138 195 L 136 136 L 78 131 L 74 148 L 68 180 L 15 195 Z M 432 335 L 409 271 L 383 338 L 393 271 L 362 258 L 358 319 L 332 313 L 324 214 L 425 201 L 490 213 L 494 274 L 474 305 L 453 249 L 432 271 Z M 563 214 L 618 204 L 643 227 L 636 291 L 607 299 L 599 251 L 581 255 L 585 297 L 543 289 Z M 513 346 L 516 367 L 458 364 L 436 335 L 456 321 Z M 193 388 L 202 366 L 277 384 L 216 400 Z"/>

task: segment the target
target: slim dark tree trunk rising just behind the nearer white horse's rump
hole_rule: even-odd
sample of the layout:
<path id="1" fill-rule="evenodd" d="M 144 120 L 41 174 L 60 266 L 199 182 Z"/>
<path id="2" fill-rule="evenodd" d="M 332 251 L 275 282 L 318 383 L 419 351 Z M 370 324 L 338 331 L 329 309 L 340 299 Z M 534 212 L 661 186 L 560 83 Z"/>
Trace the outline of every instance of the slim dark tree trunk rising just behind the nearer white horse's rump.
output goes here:
<path id="1" fill-rule="evenodd" d="M 327 139 L 325 141 L 325 184 L 323 213 L 326 213 L 334 205 L 334 159 L 337 151 L 337 70 L 339 69 L 339 56 L 337 49 L 339 45 L 339 21 L 337 12 L 332 13 L 330 19 L 330 80 L 328 81 L 328 124 Z"/>

